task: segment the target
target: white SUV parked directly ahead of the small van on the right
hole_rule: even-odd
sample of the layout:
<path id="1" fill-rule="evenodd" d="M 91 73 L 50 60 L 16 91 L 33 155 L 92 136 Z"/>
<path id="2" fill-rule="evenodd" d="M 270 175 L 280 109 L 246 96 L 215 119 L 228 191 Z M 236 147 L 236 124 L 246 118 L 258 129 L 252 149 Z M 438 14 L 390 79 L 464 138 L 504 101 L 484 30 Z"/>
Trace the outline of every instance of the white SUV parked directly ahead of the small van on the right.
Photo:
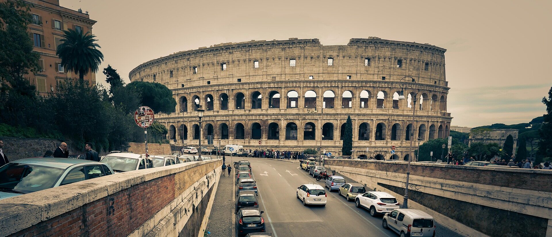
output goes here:
<path id="1" fill-rule="evenodd" d="M 375 217 L 399 209 L 399 202 L 386 192 L 365 192 L 354 198 L 354 206 L 370 209 L 370 216 Z"/>

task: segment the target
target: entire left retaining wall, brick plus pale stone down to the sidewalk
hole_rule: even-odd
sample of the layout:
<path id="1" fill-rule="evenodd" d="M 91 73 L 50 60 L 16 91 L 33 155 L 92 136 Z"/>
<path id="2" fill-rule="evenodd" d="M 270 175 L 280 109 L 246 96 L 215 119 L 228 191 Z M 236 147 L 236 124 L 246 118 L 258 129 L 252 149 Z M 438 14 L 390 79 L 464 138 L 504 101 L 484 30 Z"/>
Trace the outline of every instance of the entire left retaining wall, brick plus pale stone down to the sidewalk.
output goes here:
<path id="1" fill-rule="evenodd" d="M 198 236 L 221 165 L 130 171 L 0 200 L 0 236 Z"/>

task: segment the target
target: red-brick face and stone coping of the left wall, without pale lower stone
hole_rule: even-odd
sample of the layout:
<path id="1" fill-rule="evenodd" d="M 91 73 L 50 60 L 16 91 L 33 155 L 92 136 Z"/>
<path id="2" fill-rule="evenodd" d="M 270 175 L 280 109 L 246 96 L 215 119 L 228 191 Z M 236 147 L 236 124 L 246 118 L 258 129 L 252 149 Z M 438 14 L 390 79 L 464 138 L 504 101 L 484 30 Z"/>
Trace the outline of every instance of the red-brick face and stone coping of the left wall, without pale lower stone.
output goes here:
<path id="1" fill-rule="evenodd" d="M 0 200 L 0 236 L 128 236 L 220 165 L 131 171 Z"/>

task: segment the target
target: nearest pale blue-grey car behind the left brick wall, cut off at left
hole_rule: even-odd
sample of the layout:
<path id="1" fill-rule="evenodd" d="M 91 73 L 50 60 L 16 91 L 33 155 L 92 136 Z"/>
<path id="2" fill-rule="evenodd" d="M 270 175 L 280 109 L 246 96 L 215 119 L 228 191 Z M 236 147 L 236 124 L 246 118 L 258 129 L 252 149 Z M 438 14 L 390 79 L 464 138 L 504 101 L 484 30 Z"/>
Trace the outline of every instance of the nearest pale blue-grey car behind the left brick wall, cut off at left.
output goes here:
<path id="1" fill-rule="evenodd" d="M 0 168 L 0 200 L 113 174 L 109 165 L 91 160 L 27 158 Z"/>

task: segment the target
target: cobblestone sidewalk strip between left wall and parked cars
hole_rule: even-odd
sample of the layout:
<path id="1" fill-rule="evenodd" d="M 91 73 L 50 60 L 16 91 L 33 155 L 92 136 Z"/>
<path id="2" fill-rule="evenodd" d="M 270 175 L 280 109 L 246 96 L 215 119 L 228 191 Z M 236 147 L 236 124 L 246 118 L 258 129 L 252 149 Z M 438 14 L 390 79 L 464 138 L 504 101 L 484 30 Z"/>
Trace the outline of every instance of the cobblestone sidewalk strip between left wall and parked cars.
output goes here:
<path id="1" fill-rule="evenodd" d="M 228 176 L 228 171 L 225 171 L 226 176 L 221 176 L 219 186 L 216 189 L 215 201 L 211 214 L 209 216 L 209 223 L 207 224 L 207 231 L 209 237 L 230 237 L 232 236 L 232 215 L 234 213 L 234 203 L 232 201 L 233 196 L 233 170 Z"/>

